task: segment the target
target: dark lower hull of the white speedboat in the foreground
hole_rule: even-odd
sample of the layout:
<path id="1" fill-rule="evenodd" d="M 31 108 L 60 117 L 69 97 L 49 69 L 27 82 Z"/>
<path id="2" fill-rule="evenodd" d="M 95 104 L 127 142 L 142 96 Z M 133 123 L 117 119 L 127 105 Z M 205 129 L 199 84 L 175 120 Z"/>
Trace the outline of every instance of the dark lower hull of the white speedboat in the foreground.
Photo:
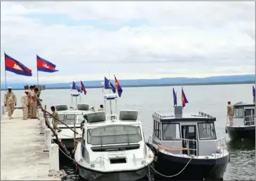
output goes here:
<path id="1" fill-rule="evenodd" d="M 97 172 L 83 166 L 79 166 L 79 175 L 86 180 L 140 180 L 147 177 L 149 173 L 148 166 L 140 168 L 137 171 L 118 171 L 118 172 Z"/>

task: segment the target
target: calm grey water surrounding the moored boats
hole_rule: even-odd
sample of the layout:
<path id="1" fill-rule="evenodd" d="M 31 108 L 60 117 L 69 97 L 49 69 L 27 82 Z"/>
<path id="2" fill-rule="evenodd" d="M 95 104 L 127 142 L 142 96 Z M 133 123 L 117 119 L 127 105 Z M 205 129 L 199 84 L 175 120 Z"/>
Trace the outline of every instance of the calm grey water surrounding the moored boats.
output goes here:
<path id="1" fill-rule="evenodd" d="M 177 102 L 181 103 L 181 87 L 174 87 L 177 91 Z M 135 109 L 140 113 L 140 119 L 144 127 L 145 138 L 151 134 L 151 115 L 157 113 L 173 113 L 173 87 L 129 87 L 123 88 L 123 95 L 118 101 L 120 109 Z M 227 116 L 227 101 L 252 102 L 252 85 L 202 85 L 184 86 L 184 93 L 189 103 L 184 108 L 187 113 L 198 113 L 203 111 L 217 118 L 215 123 L 217 136 L 225 137 L 231 155 L 231 160 L 224 174 L 224 180 L 255 180 L 255 143 L 251 141 L 230 142 L 225 133 Z M 43 104 L 48 108 L 50 105 L 68 104 L 71 105 L 69 89 L 45 90 L 41 93 Z M 22 91 L 15 91 L 20 100 Z M 1 92 L 1 97 L 4 92 Z M 88 89 L 88 94 L 82 96 L 82 102 L 90 106 L 103 104 L 102 89 Z M 18 106 L 20 105 L 18 101 Z M 65 171 L 69 173 L 67 179 L 77 178 L 72 171 L 73 166 L 63 161 Z"/>

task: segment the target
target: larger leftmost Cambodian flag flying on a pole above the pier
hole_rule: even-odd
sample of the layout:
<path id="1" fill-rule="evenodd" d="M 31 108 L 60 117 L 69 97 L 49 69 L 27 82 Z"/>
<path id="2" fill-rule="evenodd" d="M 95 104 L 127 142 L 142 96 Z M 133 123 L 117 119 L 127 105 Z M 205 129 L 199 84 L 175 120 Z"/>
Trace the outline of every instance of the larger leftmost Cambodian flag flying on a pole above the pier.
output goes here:
<path id="1" fill-rule="evenodd" d="M 20 63 L 20 61 L 13 59 L 9 55 L 6 55 L 6 53 L 4 53 L 4 59 L 6 71 L 10 71 L 18 75 L 32 76 L 32 70 Z"/>

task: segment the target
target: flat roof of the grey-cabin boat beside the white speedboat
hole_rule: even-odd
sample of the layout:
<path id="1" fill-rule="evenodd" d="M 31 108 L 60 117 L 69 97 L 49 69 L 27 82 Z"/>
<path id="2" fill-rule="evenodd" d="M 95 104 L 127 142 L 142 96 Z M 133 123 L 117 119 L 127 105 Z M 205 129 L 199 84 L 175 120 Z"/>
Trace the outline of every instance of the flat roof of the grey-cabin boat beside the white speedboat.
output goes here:
<path id="1" fill-rule="evenodd" d="M 215 122 L 216 117 L 213 117 L 211 115 L 208 115 L 206 113 L 203 113 L 199 111 L 196 114 L 193 113 L 182 113 L 182 114 L 173 114 L 170 115 L 168 113 L 167 115 L 158 113 L 154 113 L 153 116 L 154 120 L 157 120 L 162 123 L 169 123 L 169 122 Z"/>

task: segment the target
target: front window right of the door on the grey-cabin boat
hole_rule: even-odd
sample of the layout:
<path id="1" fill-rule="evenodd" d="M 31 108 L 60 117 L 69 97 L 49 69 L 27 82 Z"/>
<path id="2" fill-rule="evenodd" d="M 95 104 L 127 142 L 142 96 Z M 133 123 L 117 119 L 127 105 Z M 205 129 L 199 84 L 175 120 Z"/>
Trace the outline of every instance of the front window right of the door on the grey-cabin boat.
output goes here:
<path id="1" fill-rule="evenodd" d="M 201 140 L 216 139 L 215 126 L 213 122 L 198 123 L 198 133 Z"/>

